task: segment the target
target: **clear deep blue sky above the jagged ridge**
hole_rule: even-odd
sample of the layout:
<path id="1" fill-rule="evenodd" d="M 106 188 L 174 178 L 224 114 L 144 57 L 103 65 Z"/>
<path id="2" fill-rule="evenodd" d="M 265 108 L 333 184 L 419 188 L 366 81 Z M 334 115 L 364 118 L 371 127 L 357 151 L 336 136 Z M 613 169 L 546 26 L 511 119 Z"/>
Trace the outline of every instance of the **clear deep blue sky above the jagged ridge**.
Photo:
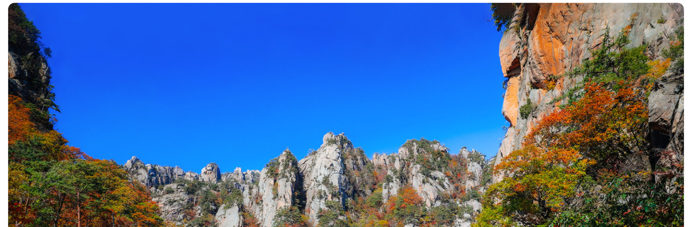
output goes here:
<path id="1" fill-rule="evenodd" d="M 371 157 L 503 137 L 486 3 L 20 6 L 53 50 L 57 130 L 98 159 L 225 172 L 330 131 Z"/>

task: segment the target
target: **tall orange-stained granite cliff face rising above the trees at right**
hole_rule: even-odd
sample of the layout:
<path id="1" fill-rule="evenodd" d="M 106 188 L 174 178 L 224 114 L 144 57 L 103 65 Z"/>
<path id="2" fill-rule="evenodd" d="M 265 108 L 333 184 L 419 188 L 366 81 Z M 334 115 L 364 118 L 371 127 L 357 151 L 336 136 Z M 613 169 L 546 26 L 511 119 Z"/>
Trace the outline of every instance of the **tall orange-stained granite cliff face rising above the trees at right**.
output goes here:
<path id="1" fill-rule="evenodd" d="M 664 59 L 675 30 L 682 26 L 682 6 L 677 3 L 522 3 L 500 41 L 500 63 L 507 78 L 502 115 L 509 128 L 495 164 L 521 147 L 536 124 L 565 104 L 553 101 L 583 81 L 565 77 L 597 48 L 606 32 L 626 32 L 627 48 L 647 44 L 650 59 Z M 656 80 L 648 99 L 650 142 L 657 148 L 682 148 L 683 75 L 666 72 Z M 529 104 L 527 117 L 520 107 Z M 498 181 L 502 176 L 493 177 Z"/>

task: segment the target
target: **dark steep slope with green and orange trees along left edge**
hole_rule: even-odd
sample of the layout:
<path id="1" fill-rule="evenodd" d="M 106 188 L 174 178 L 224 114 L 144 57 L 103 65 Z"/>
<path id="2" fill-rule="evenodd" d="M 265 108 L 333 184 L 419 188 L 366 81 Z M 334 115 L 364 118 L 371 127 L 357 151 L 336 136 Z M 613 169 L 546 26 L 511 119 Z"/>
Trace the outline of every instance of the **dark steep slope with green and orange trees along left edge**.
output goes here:
<path id="1" fill-rule="evenodd" d="M 52 130 L 48 108 L 57 105 L 50 77 L 41 79 L 50 73 L 42 68 L 50 49 L 39 55 L 41 33 L 16 3 L 8 27 L 10 52 L 21 58 L 25 76 L 35 79 L 8 95 L 8 226 L 167 225 L 147 189 L 118 164 L 89 157 Z M 44 96 L 23 99 L 28 93 Z"/>

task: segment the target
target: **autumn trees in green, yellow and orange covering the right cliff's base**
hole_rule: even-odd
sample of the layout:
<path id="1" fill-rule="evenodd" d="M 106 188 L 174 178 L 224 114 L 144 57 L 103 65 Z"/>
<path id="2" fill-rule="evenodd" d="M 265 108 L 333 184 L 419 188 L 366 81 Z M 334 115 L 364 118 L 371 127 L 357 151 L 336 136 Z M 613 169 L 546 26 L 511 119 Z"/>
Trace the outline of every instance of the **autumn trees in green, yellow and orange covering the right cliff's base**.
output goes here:
<path id="1" fill-rule="evenodd" d="M 583 93 L 543 117 L 523 147 L 495 166 L 505 177 L 484 195 L 474 226 L 682 223 L 678 170 L 663 178 L 661 170 L 623 168 L 632 157 L 662 155 L 646 142 L 646 94 L 650 77 L 665 72 L 668 61 L 648 60 L 643 47 L 624 48 L 626 34 L 605 36 L 594 58 L 573 72 L 585 76 Z"/>

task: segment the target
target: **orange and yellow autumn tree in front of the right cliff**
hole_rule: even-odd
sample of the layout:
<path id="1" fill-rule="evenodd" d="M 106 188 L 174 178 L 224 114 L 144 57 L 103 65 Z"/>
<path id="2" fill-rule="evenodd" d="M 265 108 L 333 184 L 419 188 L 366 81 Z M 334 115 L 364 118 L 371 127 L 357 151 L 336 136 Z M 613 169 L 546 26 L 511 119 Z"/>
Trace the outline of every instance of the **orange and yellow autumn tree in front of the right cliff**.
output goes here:
<path id="1" fill-rule="evenodd" d="M 581 182 L 590 179 L 588 168 L 617 167 L 617 160 L 644 146 L 644 100 L 623 85 L 612 92 L 587 83 L 582 99 L 543 118 L 523 147 L 495 166 L 495 174 L 507 177 L 487 191 L 488 211 L 477 226 L 543 224 L 572 204 Z"/>

